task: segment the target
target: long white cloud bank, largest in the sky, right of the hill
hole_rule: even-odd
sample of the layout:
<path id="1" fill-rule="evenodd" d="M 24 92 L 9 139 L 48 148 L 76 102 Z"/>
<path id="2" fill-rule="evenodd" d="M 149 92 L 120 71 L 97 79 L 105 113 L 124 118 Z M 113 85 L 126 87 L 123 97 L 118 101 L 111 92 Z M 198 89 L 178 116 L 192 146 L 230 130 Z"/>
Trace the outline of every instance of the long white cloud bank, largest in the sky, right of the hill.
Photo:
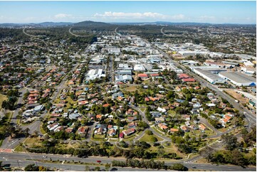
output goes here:
<path id="1" fill-rule="evenodd" d="M 98 18 L 159 18 L 159 19 L 183 19 L 184 15 L 179 14 L 175 16 L 167 16 L 159 13 L 145 12 L 145 13 L 124 13 L 124 12 L 112 12 L 105 11 L 104 14 L 95 14 Z"/>

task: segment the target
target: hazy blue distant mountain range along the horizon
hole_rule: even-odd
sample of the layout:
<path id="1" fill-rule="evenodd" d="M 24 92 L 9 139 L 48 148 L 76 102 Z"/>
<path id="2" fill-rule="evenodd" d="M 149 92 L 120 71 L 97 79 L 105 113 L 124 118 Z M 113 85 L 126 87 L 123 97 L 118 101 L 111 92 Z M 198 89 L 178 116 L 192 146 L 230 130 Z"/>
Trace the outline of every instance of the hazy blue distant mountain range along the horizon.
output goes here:
<path id="1" fill-rule="evenodd" d="M 135 23 L 104 23 L 104 22 L 96 22 L 96 21 L 81 21 L 78 23 L 71 22 L 43 22 L 43 23 L 0 23 L 1 28 L 20 28 L 23 26 L 33 26 L 33 27 L 56 27 L 56 26 L 88 26 L 88 27 L 110 27 L 110 26 L 124 26 L 124 25 L 132 25 L 132 26 L 142 26 L 142 25 L 201 25 L 201 26 L 213 26 L 213 25 L 241 25 L 241 26 L 251 26 L 255 24 L 234 24 L 234 23 L 223 23 L 223 24 L 214 24 L 214 23 L 194 23 L 194 22 L 182 22 L 182 23 L 173 23 L 169 21 L 156 21 L 156 22 L 135 22 Z"/>

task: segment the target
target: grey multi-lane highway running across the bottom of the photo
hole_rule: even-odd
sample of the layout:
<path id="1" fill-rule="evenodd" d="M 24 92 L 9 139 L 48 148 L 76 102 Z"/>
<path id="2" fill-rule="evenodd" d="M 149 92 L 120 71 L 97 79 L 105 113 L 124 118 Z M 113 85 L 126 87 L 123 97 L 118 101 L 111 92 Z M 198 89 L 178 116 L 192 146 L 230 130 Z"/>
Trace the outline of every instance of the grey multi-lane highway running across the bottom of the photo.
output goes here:
<path id="1" fill-rule="evenodd" d="M 43 155 L 46 155 L 47 158 L 43 158 Z M 90 156 L 88 158 L 78 158 L 75 156 L 69 155 L 52 155 L 52 154 L 26 154 L 26 153 L 4 153 L 0 152 L 0 161 L 3 163 L 11 163 L 11 166 L 20 166 L 24 167 L 31 163 L 36 163 L 37 165 L 48 166 L 51 168 L 58 168 L 62 170 L 73 170 L 73 171 L 85 171 L 85 165 L 75 165 L 75 164 L 62 164 L 63 161 L 75 161 L 75 162 L 83 162 L 83 163 L 97 163 L 96 161 L 102 161 L 103 165 L 105 163 L 112 163 L 113 160 L 117 161 L 126 161 L 125 158 L 107 158 L 100 156 Z M 59 160 L 60 163 L 45 163 L 39 162 L 43 160 Z M 172 161 L 164 161 L 167 166 L 171 166 L 174 163 Z M 256 171 L 256 167 L 247 167 L 242 168 L 241 166 L 227 166 L 227 165 L 212 165 L 210 163 L 184 163 L 184 166 L 187 168 L 193 168 L 206 170 L 206 171 Z M 117 168 L 118 171 L 139 171 L 139 168 Z M 142 169 L 142 171 L 144 171 Z M 151 170 L 152 171 L 152 170 Z"/>

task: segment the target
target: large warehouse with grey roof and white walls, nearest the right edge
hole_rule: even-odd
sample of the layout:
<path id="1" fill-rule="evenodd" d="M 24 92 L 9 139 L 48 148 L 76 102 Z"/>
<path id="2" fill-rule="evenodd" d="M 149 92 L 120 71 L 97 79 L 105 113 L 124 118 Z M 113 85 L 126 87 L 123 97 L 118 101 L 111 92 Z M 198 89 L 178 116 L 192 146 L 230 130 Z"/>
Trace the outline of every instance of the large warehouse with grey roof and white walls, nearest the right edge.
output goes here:
<path id="1" fill-rule="evenodd" d="M 241 72 L 220 72 L 219 76 L 237 86 L 256 86 L 256 78 Z"/>

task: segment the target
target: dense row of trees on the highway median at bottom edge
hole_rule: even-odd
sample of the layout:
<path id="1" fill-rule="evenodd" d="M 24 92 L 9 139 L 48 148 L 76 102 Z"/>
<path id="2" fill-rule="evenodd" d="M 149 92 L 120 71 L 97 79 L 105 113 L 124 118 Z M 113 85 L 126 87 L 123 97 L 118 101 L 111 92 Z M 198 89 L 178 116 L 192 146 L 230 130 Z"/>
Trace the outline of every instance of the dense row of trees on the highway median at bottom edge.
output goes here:
<path id="1" fill-rule="evenodd" d="M 154 161 L 153 159 L 141 161 L 137 159 L 127 159 L 126 161 L 112 161 L 112 166 L 121 166 L 121 167 L 137 167 L 137 168 L 152 168 L 152 169 L 164 169 L 164 170 L 176 170 L 176 171 L 187 171 L 188 168 L 183 166 L 181 163 L 175 163 L 172 166 L 166 166 L 164 161 Z"/>

